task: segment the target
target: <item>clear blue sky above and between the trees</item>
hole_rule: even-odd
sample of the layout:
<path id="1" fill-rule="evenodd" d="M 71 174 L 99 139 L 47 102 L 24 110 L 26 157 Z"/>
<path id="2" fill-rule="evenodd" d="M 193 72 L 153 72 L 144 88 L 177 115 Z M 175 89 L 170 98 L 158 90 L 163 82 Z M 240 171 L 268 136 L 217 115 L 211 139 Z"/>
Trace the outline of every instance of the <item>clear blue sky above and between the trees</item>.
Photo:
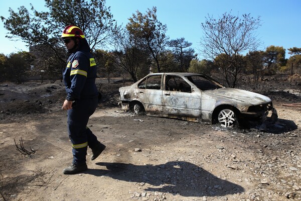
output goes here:
<path id="1" fill-rule="evenodd" d="M 24 5 L 30 10 L 30 3 L 36 10 L 45 11 L 43 0 L 15 0 L 2 2 L 0 16 L 9 17 L 9 8 L 17 12 Z M 205 17 L 213 16 L 217 19 L 224 13 L 231 12 L 234 16 L 241 17 L 250 14 L 257 18 L 260 16 L 262 26 L 257 30 L 258 38 L 263 45 L 259 50 L 264 50 L 270 45 L 288 48 L 301 47 L 301 1 L 300 0 L 107 0 L 106 7 L 110 7 L 111 13 L 118 25 L 124 26 L 128 18 L 138 10 L 145 13 L 147 9 L 157 7 L 157 18 L 162 24 L 166 24 L 167 35 L 170 39 L 184 37 L 186 41 L 193 43 L 192 48 L 198 53 L 200 38 L 202 37 L 201 23 Z M 8 32 L 1 21 L 0 37 L 2 45 L 0 53 L 8 55 L 20 50 L 29 51 L 22 42 L 11 41 L 5 38 Z"/>

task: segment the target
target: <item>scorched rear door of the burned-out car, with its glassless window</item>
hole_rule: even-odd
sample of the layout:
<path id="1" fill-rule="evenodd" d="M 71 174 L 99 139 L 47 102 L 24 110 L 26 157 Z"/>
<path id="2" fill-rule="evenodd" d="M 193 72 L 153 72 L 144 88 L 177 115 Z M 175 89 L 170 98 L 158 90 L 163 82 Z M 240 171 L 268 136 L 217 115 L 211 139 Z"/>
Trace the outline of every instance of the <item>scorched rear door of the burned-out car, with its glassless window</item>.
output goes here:
<path id="1" fill-rule="evenodd" d="M 150 75 L 138 83 L 137 96 L 145 112 L 162 113 L 162 75 Z"/>

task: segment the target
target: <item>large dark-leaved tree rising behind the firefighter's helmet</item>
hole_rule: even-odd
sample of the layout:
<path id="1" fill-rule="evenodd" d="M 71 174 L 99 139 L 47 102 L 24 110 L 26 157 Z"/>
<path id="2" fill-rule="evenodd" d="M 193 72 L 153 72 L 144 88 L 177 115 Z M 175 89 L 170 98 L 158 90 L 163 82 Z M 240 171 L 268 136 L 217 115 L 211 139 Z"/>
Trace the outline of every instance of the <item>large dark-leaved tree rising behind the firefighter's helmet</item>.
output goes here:
<path id="1" fill-rule="evenodd" d="M 53 78 L 66 62 L 66 51 L 60 39 L 67 25 L 77 25 L 85 33 L 91 49 L 103 46 L 112 35 L 115 22 L 104 0 L 45 0 L 47 12 L 39 12 L 32 6 L 31 13 L 24 7 L 18 12 L 10 9 L 10 17 L 1 16 L 4 27 L 9 31 L 8 38 L 24 41 L 36 49 L 36 71 L 47 71 Z M 42 69 L 42 67 L 44 68 Z M 51 68 L 48 68 L 51 67 Z"/>

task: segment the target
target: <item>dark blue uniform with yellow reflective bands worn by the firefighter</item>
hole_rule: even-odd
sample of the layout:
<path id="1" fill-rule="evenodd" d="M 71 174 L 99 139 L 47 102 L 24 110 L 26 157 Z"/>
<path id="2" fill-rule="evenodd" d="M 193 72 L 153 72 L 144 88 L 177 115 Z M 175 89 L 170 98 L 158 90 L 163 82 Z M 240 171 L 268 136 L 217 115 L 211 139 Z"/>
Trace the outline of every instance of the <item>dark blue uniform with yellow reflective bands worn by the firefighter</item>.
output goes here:
<path id="1" fill-rule="evenodd" d="M 89 117 L 98 105 L 98 90 L 95 85 L 96 63 L 86 51 L 72 53 L 63 72 L 67 100 L 73 101 L 68 110 L 68 132 L 72 143 L 73 164 L 86 163 L 87 146 L 91 149 L 99 143 L 87 128 Z"/>

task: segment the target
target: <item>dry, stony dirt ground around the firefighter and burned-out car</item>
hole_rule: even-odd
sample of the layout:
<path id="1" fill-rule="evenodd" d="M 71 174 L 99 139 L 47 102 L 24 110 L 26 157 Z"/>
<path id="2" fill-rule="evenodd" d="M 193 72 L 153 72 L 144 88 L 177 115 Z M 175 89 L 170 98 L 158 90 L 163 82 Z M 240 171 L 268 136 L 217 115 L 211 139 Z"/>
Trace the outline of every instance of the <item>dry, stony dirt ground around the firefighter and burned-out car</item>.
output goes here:
<path id="1" fill-rule="evenodd" d="M 64 175 L 72 161 L 64 91 L 37 85 L 0 88 L 3 100 L 20 93 L 1 102 L 0 200 L 301 200 L 301 109 L 283 98 L 274 97 L 276 125 L 223 130 L 123 112 L 118 91 L 107 90 L 118 85 L 103 86 L 88 126 L 107 148 L 94 161 L 88 150 L 87 171 Z M 21 137 L 31 158 L 16 150 Z"/>

